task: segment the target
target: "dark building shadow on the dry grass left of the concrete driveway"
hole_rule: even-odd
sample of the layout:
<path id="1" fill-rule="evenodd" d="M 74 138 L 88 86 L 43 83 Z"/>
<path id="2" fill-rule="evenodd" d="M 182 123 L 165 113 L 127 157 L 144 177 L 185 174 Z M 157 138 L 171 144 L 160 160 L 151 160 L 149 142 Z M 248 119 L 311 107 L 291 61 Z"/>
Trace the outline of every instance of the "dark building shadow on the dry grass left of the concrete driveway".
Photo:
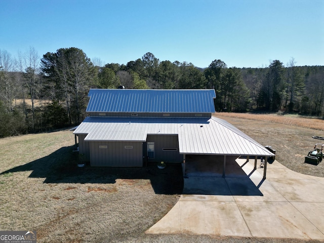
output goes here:
<path id="1" fill-rule="evenodd" d="M 116 179 L 149 179 L 156 194 L 181 194 L 183 177 L 181 164 L 168 164 L 158 169 L 156 164 L 142 168 L 77 167 L 74 146 L 62 147 L 50 155 L 22 166 L 7 170 L 0 175 L 32 171 L 30 178 L 45 178 L 44 183 L 110 183 Z"/>

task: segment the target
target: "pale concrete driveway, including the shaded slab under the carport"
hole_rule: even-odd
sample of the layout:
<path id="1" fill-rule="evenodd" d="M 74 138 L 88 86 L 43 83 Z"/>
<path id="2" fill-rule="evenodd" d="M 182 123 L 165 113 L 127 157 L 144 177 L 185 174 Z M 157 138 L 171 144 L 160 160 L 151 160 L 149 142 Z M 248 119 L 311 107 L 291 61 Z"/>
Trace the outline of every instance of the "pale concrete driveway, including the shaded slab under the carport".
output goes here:
<path id="1" fill-rule="evenodd" d="M 263 180 L 259 160 L 226 163 L 222 178 L 222 157 L 189 159 L 178 203 L 146 233 L 324 240 L 324 178 L 274 161 Z"/>

